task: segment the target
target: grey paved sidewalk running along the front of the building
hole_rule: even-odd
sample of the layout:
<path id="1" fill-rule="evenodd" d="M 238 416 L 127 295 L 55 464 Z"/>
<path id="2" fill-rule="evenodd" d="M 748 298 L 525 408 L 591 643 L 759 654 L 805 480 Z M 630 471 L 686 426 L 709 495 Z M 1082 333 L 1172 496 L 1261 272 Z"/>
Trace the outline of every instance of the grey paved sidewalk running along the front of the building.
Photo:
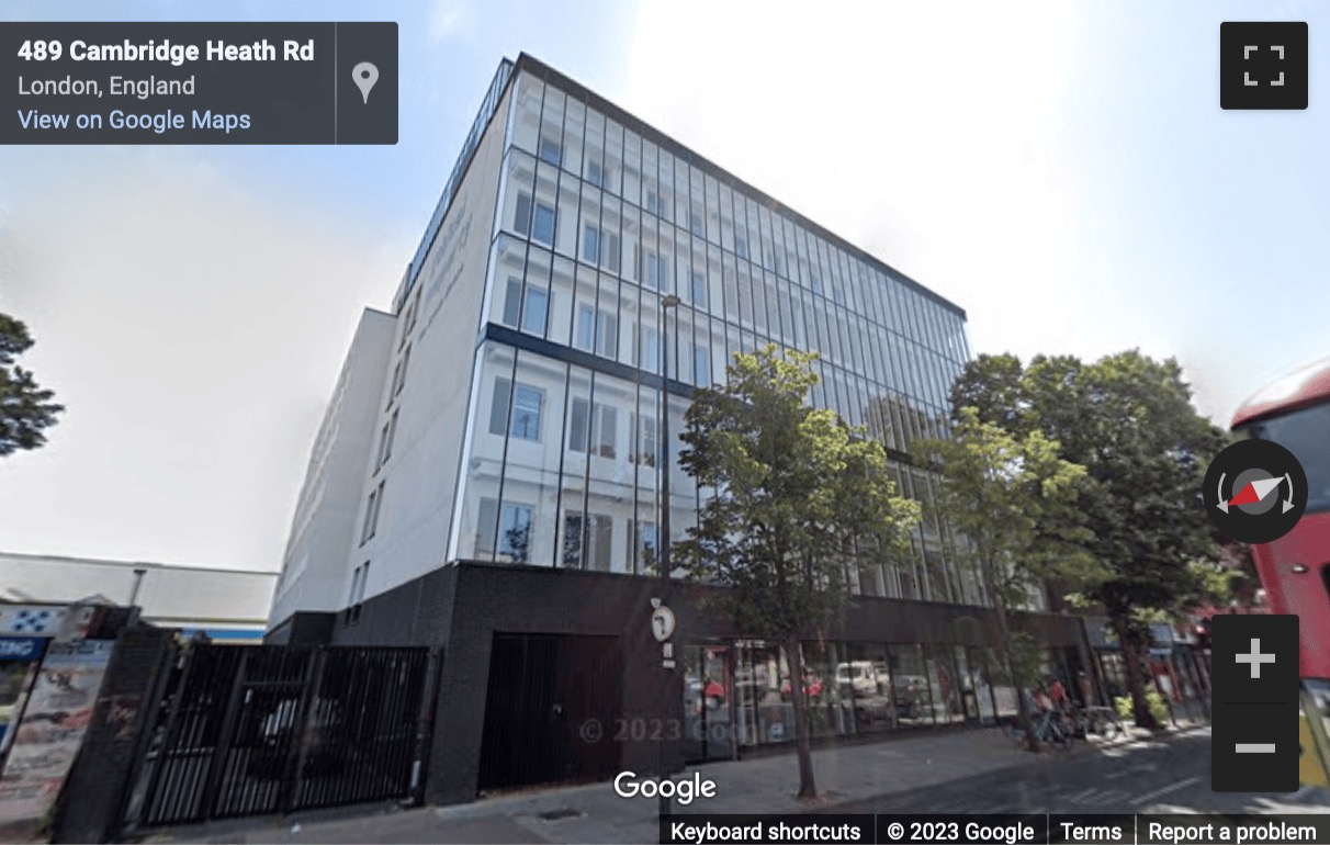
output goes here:
<path id="1" fill-rule="evenodd" d="M 1144 732 L 1141 732 L 1144 733 Z M 1165 732 L 1178 733 L 1178 731 Z M 1108 745 L 1113 745 L 1109 743 Z M 1096 745 L 1079 744 L 1077 756 Z M 689 766 L 716 781 L 716 797 L 676 804 L 676 813 L 806 813 L 1008 769 L 1041 765 L 1015 748 L 999 729 L 884 739 L 880 743 L 813 752 L 815 804 L 795 801 L 798 768 L 793 753 Z M 335 821 L 295 824 L 251 820 L 243 828 L 181 828 L 145 842 L 656 842 L 654 798 L 624 798 L 610 784 L 552 788 L 472 804 L 420 808 Z"/>

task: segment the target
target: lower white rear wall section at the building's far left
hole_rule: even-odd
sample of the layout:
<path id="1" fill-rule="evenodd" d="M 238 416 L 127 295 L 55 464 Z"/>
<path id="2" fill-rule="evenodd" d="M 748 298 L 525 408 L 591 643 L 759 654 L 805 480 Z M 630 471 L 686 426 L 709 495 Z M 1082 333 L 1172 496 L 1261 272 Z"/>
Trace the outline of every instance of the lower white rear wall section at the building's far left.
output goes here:
<path id="1" fill-rule="evenodd" d="M 366 309 L 315 436 L 282 560 L 270 627 L 295 611 L 346 604 L 347 550 L 359 538 L 360 484 L 378 448 L 379 398 L 398 319 Z"/>

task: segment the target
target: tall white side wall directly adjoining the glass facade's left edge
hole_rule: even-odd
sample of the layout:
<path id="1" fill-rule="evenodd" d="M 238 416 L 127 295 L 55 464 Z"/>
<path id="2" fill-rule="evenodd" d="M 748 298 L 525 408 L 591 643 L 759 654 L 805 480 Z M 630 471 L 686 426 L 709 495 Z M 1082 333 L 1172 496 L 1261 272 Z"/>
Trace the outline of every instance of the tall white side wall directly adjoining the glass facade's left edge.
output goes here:
<path id="1" fill-rule="evenodd" d="M 403 314 L 416 309 L 407 337 L 394 341 L 380 398 L 374 405 L 375 428 L 398 413 L 392 454 L 382 467 L 371 456 L 363 474 L 359 522 L 340 590 L 340 603 L 352 599 L 355 571 L 370 564 L 356 596 L 368 599 L 424 575 L 447 560 L 458 460 L 485 293 L 489 237 L 503 160 L 508 96 L 500 101 L 481 136 L 439 236 L 422 262 L 415 287 L 403 299 Z M 410 358 L 395 393 L 394 373 Z M 392 395 L 395 393 L 395 395 Z M 383 499 L 372 536 L 364 539 L 371 492 Z M 302 608 L 303 609 L 303 608 Z"/>

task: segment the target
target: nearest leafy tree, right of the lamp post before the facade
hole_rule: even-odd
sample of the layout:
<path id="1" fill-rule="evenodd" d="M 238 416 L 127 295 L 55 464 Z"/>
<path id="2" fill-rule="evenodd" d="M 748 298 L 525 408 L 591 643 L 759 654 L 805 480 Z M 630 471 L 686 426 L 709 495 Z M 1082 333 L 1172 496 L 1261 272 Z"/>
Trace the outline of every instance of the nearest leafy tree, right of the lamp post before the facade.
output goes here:
<path id="1" fill-rule="evenodd" d="M 725 385 L 693 394 L 680 463 L 716 491 L 678 544 L 685 574 L 724 586 L 716 601 L 790 661 L 799 797 L 817 794 L 803 637 L 849 601 L 850 567 L 896 559 L 916 503 L 895 495 L 880 443 L 806 403 L 817 354 L 738 354 Z"/>

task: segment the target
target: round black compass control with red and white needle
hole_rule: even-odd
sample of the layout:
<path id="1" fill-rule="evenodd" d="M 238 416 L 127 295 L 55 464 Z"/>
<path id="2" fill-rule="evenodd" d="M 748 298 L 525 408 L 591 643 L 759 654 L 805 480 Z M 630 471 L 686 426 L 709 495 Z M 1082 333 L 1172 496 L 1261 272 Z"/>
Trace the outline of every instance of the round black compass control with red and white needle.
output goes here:
<path id="1" fill-rule="evenodd" d="M 1205 474 L 1205 512 L 1242 543 L 1271 543 L 1307 507 L 1307 474 L 1293 452 L 1270 440 L 1238 440 Z"/>

